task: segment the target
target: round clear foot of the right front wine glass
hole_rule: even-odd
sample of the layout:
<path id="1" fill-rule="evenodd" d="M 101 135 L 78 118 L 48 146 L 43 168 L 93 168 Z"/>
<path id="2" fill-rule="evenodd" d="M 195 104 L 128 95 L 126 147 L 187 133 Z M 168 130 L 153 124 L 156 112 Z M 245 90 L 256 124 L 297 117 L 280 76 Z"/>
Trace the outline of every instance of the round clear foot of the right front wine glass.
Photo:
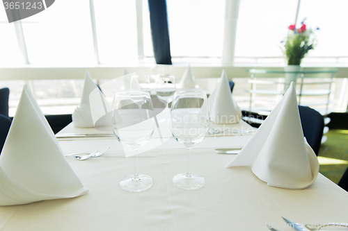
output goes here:
<path id="1" fill-rule="evenodd" d="M 205 184 L 203 176 L 191 173 L 187 176 L 187 173 L 180 173 L 173 177 L 173 183 L 176 187 L 185 190 L 200 189 Z"/>

